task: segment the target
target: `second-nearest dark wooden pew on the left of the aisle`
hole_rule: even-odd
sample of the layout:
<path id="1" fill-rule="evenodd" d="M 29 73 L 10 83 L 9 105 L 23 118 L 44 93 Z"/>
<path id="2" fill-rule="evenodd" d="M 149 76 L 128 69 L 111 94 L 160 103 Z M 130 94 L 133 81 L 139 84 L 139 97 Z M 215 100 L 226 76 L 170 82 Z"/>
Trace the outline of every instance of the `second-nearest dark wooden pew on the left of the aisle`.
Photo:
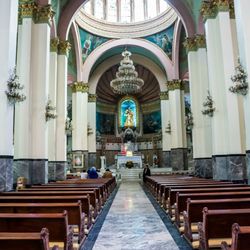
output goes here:
<path id="1" fill-rule="evenodd" d="M 0 214 L 0 232 L 38 232 L 46 227 L 51 242 L 64 250 L 73 250 L 73 231 L 67 212 L 53 214 Z M 53 243 L 52 243 L 53 244 Z"/>

